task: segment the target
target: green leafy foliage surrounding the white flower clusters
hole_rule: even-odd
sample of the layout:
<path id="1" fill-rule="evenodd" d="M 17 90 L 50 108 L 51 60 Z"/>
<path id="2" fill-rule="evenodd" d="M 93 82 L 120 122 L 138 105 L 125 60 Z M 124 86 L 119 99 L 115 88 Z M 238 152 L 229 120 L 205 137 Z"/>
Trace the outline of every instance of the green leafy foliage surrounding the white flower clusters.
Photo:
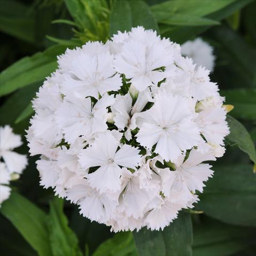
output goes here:
<path id="1" fill-rule="evenodd" d="M 25 135 L 30 101 L 67 47 L 105 42 L 142 25 L 183 43 L 200 35 L 217 56 L 212 81 L 226 104 L 231 133 L 193 212 L 164 231 L 110 233 L 76 206 L 39 186 L 37 157 L 0 209 L 1 255 L 252 256 L 256 226 L 256 2 L 253 0 L 1 0 L 0 125 Z M 236 119 L 234 119 L 236 118 Z M 238 120 L 238 121 L 237 121 Z M 23 137 L 24 139 L 24 137 Z M 24 139 L 25 141 L 25 139 Z M 28 154 L 26 144 L 18 149 Z M 254 162 L 254 163 L 253 163 Z M 255 170 L 255 169 L 254 169 Z M 203 212 L 203 213 L 202 213 Z"/>

